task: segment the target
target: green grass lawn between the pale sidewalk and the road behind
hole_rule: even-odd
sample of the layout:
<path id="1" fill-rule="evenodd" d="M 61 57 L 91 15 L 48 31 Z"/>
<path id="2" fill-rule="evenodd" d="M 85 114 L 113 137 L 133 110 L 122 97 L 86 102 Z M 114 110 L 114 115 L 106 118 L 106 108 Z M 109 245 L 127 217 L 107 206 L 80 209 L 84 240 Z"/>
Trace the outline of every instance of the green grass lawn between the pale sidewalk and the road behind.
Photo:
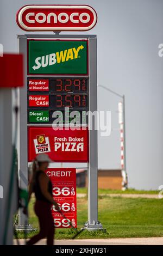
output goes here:
<path id="1" fill-rule="evenodd" d="M 29 223 L 38 228 L 37 218 L 33 211 L 34 198 L 29 204 Z M 87 199 L 78 198 L 78 228 L 87 221 Z M 106 228 L 101 231 L 84 230 L 78 239 L 117 238 L 117 237 L 154 237 L 163 236 L 163 199 L 98 197 L 98 219 Z M 72 229 L 56 229 L 55 239 L 71 239 Z M 35 233 L 29 233 L 28 237 Z M 23 238 L 23 233 L 18 233 Z"/>

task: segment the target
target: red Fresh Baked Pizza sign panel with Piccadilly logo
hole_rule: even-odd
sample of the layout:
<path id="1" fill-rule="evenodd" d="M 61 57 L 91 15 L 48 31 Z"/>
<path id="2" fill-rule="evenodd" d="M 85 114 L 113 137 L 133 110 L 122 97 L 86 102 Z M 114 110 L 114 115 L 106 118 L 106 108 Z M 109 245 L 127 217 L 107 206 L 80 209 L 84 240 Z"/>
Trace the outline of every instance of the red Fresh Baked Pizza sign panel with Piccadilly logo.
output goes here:
<path id="1" fill-rule="evenodd" d="M 57 130 L 54 130 L 57 129 Z M 55 162 L 89 162 L 87 127 L 28 127 L 28 162 L 47 153 Z"/>

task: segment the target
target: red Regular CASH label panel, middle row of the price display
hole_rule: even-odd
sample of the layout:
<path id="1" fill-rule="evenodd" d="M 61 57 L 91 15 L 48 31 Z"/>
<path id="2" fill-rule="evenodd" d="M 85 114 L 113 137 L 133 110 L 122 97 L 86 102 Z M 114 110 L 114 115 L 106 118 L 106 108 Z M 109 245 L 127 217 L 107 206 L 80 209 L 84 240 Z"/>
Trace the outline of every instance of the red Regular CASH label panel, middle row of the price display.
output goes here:
<path id="1" fill-rule="evenodd" d="M 48 107 L 49 95 L 29 95 L 29 107 Z"/>

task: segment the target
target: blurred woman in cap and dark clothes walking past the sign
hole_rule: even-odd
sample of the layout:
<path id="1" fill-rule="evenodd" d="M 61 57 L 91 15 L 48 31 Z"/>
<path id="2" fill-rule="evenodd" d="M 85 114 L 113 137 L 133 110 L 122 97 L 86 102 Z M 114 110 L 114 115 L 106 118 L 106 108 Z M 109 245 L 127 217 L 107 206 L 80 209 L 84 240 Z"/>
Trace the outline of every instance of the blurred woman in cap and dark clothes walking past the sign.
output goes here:
<path id="1" fill-rule="evenodd" d="M 52 197 L 52 183 L 46 175 L 46 170 L 52 162 L 47 154 L 39 154 L 33 163 L 33 176 L 29 184 L 29 198 L 35 193 L 36 202 L 34 206 L 35 214 L 39 218 L 40 232 L 27 242 L 27 245 L 34 245 L 40 239 L 47 237 L 47 245 L 53 245 L 54 222 L 51 214 L 51 205 L 59 210 L 57 202 Z"/>

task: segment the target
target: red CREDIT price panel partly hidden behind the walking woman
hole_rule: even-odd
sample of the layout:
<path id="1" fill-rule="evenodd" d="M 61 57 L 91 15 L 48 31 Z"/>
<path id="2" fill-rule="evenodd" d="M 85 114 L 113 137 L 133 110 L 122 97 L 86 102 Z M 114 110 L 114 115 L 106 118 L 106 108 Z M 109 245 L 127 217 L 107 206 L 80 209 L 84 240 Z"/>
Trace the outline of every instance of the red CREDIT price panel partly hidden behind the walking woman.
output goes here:
<path id="1" fill-rule="evenodd" d="M 60 212 L 52 206 L 55 228 L 77 228 L 77 196 L 75 168 L 48 168 L 47 176 L 52 181 L 53 198 Z"/>

